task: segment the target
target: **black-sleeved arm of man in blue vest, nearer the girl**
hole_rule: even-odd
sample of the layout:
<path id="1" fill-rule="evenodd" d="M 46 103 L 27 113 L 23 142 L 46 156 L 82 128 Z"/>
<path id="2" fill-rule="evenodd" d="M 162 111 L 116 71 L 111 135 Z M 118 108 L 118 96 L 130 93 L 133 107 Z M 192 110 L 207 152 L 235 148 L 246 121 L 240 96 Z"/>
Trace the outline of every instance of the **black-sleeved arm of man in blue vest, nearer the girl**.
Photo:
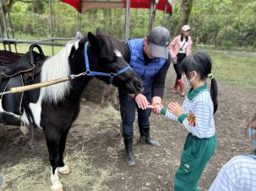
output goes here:
<path id="1" fill-rule="evenodd" d="M 159 97 L 163 98 L 164 89 L 165 89 L 165 82 L 166 82 L 166 74 L 168 72 L 169 66 L 171 63 L 171 55 L 168 55 L 168 59 L 166 60 L 165 64 L 161 67 L 160 71 L 157 72 L 153 79 L 153 92 L 152 97 Z"/>

